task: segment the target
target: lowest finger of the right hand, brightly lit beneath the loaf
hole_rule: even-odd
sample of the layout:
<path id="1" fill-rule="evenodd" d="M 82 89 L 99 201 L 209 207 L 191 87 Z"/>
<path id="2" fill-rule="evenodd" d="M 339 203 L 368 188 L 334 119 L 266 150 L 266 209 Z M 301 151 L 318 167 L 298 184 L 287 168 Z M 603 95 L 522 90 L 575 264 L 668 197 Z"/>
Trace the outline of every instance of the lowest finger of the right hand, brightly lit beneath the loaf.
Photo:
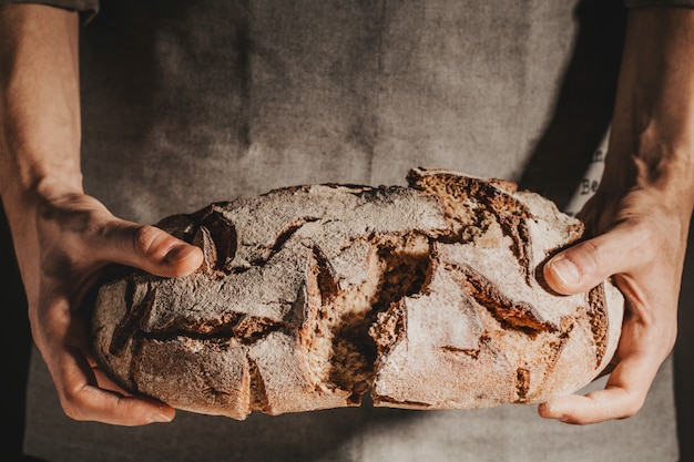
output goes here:
<path id="1" fill-rule="evenodd" d="M 660 363 L 629 357 L 614 368 L 604 390 L 555 398 L 540 404 L 538 412 L 545 419 L 581 425 L 630 418 L 643 407 Z"/>

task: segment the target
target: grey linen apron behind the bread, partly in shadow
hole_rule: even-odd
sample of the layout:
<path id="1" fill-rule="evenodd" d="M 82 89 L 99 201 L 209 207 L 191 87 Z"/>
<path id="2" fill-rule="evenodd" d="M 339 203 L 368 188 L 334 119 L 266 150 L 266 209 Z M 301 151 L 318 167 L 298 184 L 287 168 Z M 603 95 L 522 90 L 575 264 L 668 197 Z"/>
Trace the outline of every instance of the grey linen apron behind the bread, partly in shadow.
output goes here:
<path id="1" fill-rule="evenodd" d="M 104 1 L 82 35 L 85 187 L 153 223 L 282 186 L 404 184 L 423 165 L 516 179 L 575 208 L 604 151 L 622 28 L 606 0 Z M 670 362 L 639 415 L 585 428 L 534 407 L 368 403 L 115 428 L 65 418 L 37 358 L 25 448 L 47 460 L 677 458 Z"/>

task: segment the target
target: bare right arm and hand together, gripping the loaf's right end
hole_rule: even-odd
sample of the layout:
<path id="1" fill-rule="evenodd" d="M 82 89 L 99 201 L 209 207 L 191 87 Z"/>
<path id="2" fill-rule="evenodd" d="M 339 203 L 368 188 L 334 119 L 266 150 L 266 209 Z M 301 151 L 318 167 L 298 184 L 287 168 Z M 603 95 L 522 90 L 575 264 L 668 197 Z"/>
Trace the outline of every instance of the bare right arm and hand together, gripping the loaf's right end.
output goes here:
<path id="1" fill-rule="evenodd" d="M 580 217 L 594 237 L 544 267 L 561 294 L 613 276 L 626 301 L 604 390 L 553 399 L 540 415 L 592 423 L 636 413 L 672 350 L 694 208 L 694 10 L 629 13 L 605 171 Z"/>

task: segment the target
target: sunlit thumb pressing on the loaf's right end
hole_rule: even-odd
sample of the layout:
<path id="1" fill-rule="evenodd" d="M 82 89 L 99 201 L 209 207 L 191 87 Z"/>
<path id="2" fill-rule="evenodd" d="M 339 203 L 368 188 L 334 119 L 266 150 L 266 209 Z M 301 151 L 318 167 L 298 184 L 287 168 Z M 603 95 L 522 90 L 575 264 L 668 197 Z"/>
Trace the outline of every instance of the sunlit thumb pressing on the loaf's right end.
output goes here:
<path id="1" fill-rule="evenodd" d="M 542 269 L 544 280 L 559 294 L 584 292 L 629 267 L 633 251 L 625 232 L 618 228 L 576 244 L 552 257 Z"/>

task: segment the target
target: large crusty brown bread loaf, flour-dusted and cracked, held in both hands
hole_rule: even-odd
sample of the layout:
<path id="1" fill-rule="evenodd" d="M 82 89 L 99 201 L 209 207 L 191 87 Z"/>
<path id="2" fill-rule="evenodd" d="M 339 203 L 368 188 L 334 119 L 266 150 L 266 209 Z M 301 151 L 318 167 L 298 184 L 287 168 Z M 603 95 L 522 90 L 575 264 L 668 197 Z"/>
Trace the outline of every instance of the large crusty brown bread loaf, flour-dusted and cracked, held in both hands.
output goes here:
<path id="1" fill-rule="evenodd" d="M 314 185 L 160 226 L 203 249 L 188 277 L 121 270 L 99 289 L 94 350 L 113 380 L 244 419 L 358 405 L 541 402 L 610 361 L 610 281 L 559 296 L 542 264 L 582 224 L 510 182 L 412 170 L 409 187 Z"/>

